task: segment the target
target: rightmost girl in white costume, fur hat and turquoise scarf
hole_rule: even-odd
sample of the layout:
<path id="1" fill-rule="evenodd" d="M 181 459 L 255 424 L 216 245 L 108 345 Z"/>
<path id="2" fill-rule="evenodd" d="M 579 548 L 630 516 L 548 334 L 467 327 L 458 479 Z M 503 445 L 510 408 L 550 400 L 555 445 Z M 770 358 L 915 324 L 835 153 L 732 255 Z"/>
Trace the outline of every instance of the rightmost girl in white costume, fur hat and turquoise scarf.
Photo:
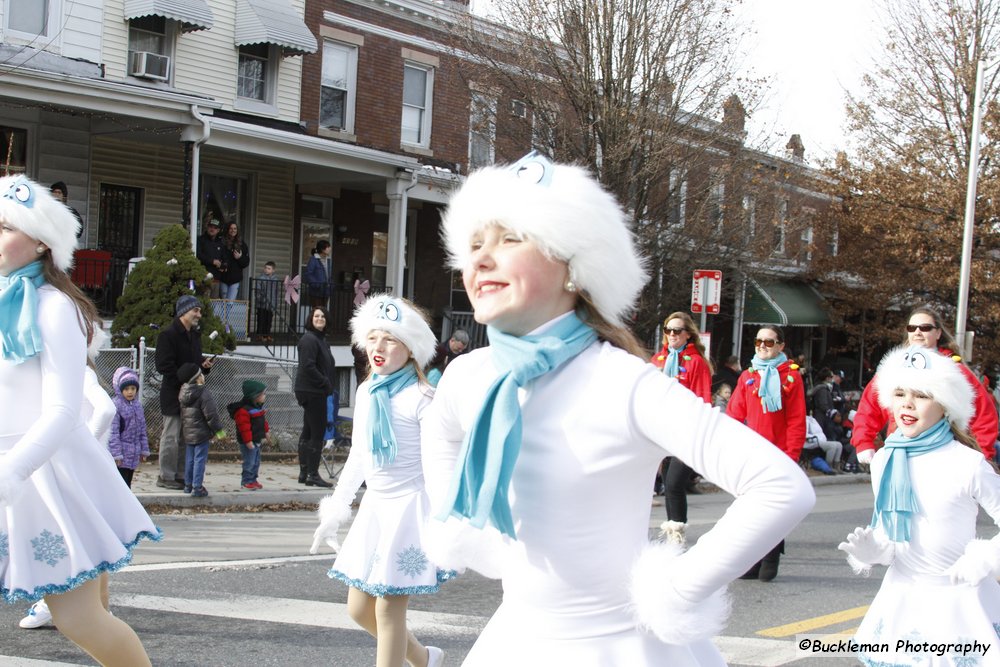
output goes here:
<path id="1" fill-rule="evenodd" d="M 958 364 L 934 349 L 898 347 L 875 375 L 896 430 L 871 463 L 875 512 L 839 545 L 856 572 L 888 565 L 855 634 L 866 665 L 1000 665 L 1000 536 L 977 540 L 982 507 L 1000 524 L 1000 476 L 968 434 L 975 392 Z M 911 647 L 896 651 L 896 643 Z M 975 642 L 985 653 L 920 651 Z"/>

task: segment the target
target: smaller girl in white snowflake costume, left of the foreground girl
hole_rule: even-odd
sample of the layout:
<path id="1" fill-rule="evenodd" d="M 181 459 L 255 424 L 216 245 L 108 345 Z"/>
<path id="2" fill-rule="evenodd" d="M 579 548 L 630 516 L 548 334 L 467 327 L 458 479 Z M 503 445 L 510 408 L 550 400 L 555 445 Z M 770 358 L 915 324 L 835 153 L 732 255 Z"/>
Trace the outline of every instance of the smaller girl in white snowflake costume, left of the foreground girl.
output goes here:
<path id="1" fill-rule="evenodd" d="M 405 299 L 368 298 L 351 319 L 354 345 L 371 374 L 358 386 L 351 453 L 333 493 L 320 502 L 311 553 L 325 541 L 339 553 L 329 576 L 350 589 L 347 611 L 376 640 L 377 667 L 439 667 L 444 654 L 406 629 L 410 595 L 436 593 L 450 575 L 427 559 L 422 528 L 429 503 L 420 463 L 420 423 L 434 389 L 424 367 L 435 339 L 424 315 Z M 367 490 L 344 545 L 337 530 Z"/>

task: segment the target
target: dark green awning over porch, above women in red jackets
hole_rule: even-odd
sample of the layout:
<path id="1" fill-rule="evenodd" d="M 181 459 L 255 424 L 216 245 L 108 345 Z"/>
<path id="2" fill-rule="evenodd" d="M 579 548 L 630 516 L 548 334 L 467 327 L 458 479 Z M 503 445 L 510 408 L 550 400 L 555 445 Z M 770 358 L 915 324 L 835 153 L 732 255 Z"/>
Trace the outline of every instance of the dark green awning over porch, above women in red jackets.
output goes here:
<path id="1" fill-rule="evenodd" d="M 830 324 L 823 298 L 811 285 L 747 280 L 744 324 L 821 327 Z"/>

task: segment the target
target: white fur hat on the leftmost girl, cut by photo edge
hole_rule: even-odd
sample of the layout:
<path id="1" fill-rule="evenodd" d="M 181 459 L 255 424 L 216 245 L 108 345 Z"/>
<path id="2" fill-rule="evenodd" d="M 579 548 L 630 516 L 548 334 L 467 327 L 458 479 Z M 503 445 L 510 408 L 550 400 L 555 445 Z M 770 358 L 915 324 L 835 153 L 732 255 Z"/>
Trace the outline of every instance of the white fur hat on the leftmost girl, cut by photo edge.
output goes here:
<path id="1" fill-rule="evenodd" d="M 47 245 L 59 269 L 73 266 L 80 223 L 48 188 L 25 176 L 0 178 L 0 220 Z"/>

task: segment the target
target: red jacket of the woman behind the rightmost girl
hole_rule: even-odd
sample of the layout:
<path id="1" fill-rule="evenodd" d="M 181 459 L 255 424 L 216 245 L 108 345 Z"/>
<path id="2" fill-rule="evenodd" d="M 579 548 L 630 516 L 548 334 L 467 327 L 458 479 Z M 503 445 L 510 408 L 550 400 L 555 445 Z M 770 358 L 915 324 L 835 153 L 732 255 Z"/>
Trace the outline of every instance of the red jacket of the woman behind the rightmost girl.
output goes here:
<path id="1" fill-rule="evenodd" d="M 993 399 L 969 370 L 969 367 L 962 363 L 961 357 L 952 355 L 951 350 L 945 347 L 940 348 L 938 352 L 955 359 L 958 367 L 962 369 L 965 379 L 969 381 L 976 392 L 976 411 L 972 414 L 972 420 L 969 422 L 969 432 L 979 443 L 979 448 L 983 450 L 986 460 L 992 461 L 996 452 L 994 444 L 997 440 L 997 410 L 993 406 Z M 878 402 L 878 390 L 875 388 L 875 378 L 872 378 L 861 394 L 861 401 L 858 403 L 858 414 L 854 416 L 851 444 L 859 452 L 875 449 L 875 436 L 887 424 L 889 426 L 887 434 L 896 430 L 896 420 L 892 418 L 892 410 L 883 408 Z"/>

